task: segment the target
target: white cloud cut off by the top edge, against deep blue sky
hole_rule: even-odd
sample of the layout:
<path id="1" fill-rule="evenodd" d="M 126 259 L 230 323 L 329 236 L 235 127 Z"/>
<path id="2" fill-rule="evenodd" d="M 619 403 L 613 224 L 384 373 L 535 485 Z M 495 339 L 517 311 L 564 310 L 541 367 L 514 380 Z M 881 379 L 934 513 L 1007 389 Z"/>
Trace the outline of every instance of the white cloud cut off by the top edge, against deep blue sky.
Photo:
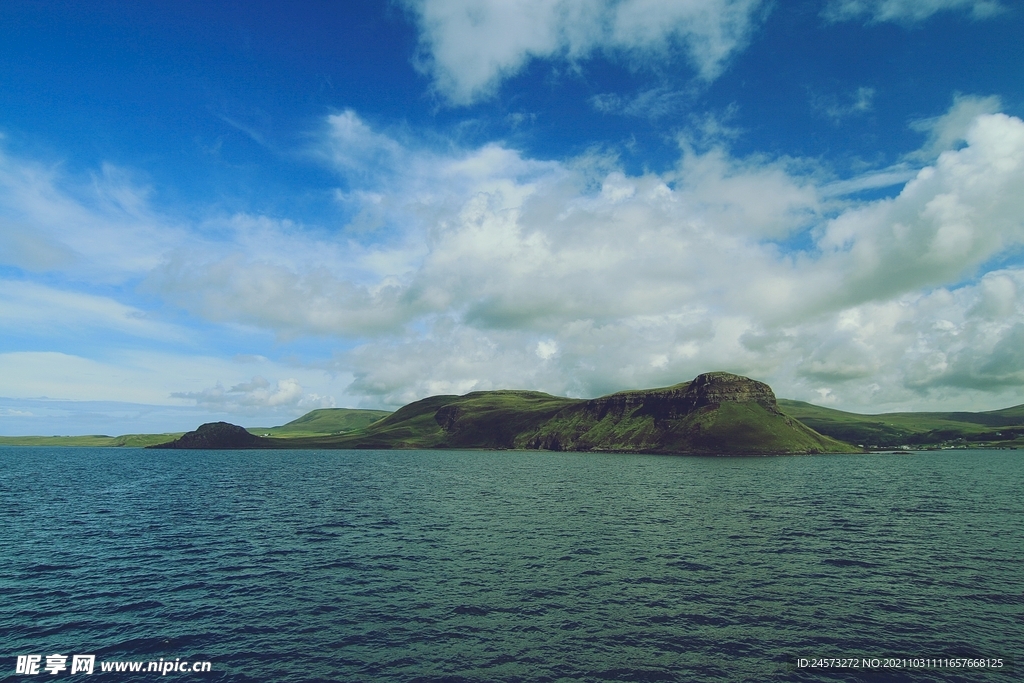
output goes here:
<path id="1" fill-rule="evenodd" d="M 420 26 L 421 67 L 456 104 L 492 94 L 530 59 L 595 51 L 642 65 L 682 49 L 714 79 L 743 47 L 761 0 L 407 0 Z"/>

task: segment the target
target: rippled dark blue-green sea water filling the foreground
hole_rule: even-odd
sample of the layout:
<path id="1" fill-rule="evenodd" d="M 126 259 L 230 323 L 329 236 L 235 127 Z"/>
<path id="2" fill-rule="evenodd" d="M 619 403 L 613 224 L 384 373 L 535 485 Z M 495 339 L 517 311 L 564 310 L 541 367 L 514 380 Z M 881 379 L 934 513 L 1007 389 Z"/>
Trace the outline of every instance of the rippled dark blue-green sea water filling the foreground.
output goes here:
<path id="1" fill-rule="evenodd" d="M 1024 677 L 1024 452 L 5 447 L 0 520 L 0 681 Z"/>

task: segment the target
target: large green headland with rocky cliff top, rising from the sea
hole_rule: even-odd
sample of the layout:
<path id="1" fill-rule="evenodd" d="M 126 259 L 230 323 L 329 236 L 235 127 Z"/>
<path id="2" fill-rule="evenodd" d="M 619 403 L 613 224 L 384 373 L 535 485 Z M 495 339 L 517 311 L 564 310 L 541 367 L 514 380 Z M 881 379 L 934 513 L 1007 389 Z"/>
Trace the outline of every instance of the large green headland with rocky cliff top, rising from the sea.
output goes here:
<path id="1" fill-rule="evenodd" d="M 511 390 L 430 396 L 349 434 L 270 441 L 268 447 L 730 455 L 857 451 L 784 415 L 768 385 L 728 373 L 589 400 Z"/>

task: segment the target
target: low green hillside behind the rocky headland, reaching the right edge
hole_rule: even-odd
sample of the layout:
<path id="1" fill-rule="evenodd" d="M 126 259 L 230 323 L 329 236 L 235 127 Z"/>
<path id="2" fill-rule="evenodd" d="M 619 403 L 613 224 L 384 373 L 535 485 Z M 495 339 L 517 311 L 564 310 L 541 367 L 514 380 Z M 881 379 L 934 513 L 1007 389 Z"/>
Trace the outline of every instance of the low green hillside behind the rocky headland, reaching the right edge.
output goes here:
<path id="1" fill-rule="evenodd" d="M 1024 405 L 984 413 L 858 415 L 799 400 L 778 404 L 822 434 L 868 447 L 1024 445 Z"/>

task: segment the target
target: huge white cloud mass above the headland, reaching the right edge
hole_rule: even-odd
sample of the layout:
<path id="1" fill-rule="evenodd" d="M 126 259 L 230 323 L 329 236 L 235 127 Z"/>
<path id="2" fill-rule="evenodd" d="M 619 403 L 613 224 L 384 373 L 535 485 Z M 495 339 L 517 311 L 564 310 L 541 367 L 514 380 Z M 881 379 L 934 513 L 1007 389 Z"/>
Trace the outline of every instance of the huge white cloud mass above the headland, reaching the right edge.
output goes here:
<path id="1" fill-rule="evenodd" d="M 468 186 L 409 281 L 421 323 L 340 362 L 389 405 L 503 386 L 595 395 L 716 368 L 837 405 L 1019 401 L 1019 271 L 950 283 L 1024 242 L 1024 122 L 978 116 L 964 138 L 896 198 L 850 205 L 821 197 L 908 167 L 837 188 L 713 147 L 665 177 L 606 173 L 594 191 L 587 164 Z M 772 242 L 811 226 L 811 251 Z M 968 314 L 983 308 L 1002 311 L 998 330 Z M 958 336 L 939 325 L 952 318 Z"/>

